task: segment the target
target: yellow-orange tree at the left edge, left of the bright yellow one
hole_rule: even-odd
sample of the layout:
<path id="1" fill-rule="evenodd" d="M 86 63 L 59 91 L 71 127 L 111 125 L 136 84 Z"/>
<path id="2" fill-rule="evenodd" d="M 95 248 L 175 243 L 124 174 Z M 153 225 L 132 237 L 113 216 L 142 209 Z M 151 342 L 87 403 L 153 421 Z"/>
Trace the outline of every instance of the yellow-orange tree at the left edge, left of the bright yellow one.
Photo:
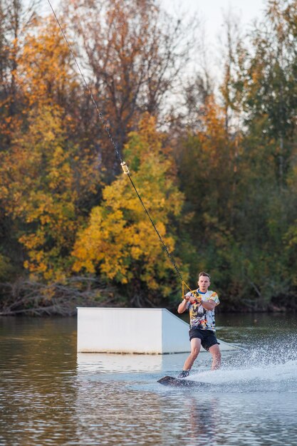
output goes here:
<path id="1" fill-rule="evenodd" d="M 83 216 L 83 197 L 98 175 L 85 152 L 68 142 L 61 110 L 33 110 L 26 133 L 1 154 L 0 199 L 24 247 L 24 266 L 35 278 L 63 279 Z"/>

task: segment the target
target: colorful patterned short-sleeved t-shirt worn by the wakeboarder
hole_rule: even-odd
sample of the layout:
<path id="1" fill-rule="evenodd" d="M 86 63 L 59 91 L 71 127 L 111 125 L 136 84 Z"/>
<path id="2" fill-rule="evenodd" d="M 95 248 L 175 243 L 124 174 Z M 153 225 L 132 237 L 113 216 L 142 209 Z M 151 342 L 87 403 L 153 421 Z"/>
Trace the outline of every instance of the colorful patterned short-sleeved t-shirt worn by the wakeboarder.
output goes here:
<path id="1" fill-rule="evenodd" d="M 216 306 L 219 305 L 219 297 L 214 291 L 207 291 L 206 293 L 201 293 L 197 289 L 193 293 L 197 293 L 199 297 L 202 298 L 203 302 L 214 301 Z M 187 293 L 187 296 L 191 296 L 191 291 Z M 216 331 L 216 323 L 214 321 L 214 309 L 206 310 L 200 304 L 187 303 L 187 309 L 189 309 L 189 324 L 191 328 L 201 328 L 202 330 Z"/>

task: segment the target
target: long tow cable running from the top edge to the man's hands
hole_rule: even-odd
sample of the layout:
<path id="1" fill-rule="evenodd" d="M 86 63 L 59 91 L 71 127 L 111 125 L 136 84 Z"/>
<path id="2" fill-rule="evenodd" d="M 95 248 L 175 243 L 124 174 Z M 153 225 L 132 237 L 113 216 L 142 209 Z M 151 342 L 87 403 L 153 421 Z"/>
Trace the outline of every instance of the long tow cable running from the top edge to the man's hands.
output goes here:
<path id="1" fill-rule="evenodd" d="M 106 124 L 106 121 L 105 121 L 105 119 L 103 118 L 103 115 L 102 115 L 102 113 L 100 112 L 100 110 L 99 110 L 99 108 L 98 108 L 98 105 L 97 105 L 97 103 L 96 103 L 96 101 L 95 101 L 95 98 L 94 98 L 94 96 L 93 96 L 93 93 L 92 93 L 92 91 L 90 90 L 90 87 L 89 87 L 87 81 L 85 81 L 85 76 L 83 76 L 83 72 L 82 72 L 81 69 L 80 69 L 79 63 L 78 63 L 77 59 L 75 58 L 75 55 L 74 55 L 74 53 L 73 53 L 73 51 L 72 51 L 72 48 L 71 48 L 71 45 L 70 45 L 70 43 L 68 42 L 68 39 L 67 39 L 67 37 L 66 37 L 66 34 L 65 34 L 64 31 L 63 31 L 63 28 L 62 28 L 62 26 L 61 26 L 61 24 L 60 24 L 60 21 L 58 20 L 58 17 L 56 16 L 56 13 L 55 13 L 55 11 L 54 11 L 54 9 L 53 9 L 53 6 L 51 5 L 51 1 L 50 1 L 50 0 L 48 0 L 48 4 L 49 4 L 49 6 L 51 7 L 51 11 L 53 12 L 53 16 L 55 17 L 56 22 L 57 22 L 57 24 L 58 24 L 58 27 L 60 28 L 61 33 L 62 33 L 62 35 L 63 35 L 63 38 L 64 38 L 64 40 L 65 40 L 66 43 L 67 43 L 67 46 L 68 46 L 68 48 L 69 48 L 69 51 L 70 51 L 70 53 L 71 53 L 71 56 L 73 57 L 73 60 L 75 61 L 75 65 L 76 65 L 77 68 L 78 68 L 78 71 L 79 71 L 79 73 L 80 73 L 80 76 L 83 78 L 83 83 L 85 84 L 85 89 L 88 90 L 88 93 L 89 93 L 89 95 L 90 95 L 90 98 L 91 98 L 91 100 L 92 100 L 92 102 L 93 102 L 93 104 L 94 104 L 94 106 L 95 106 L 95 110 L 97 111 L 98 116 L 99 116 L 99 118 L 100 118 L 100 120 L 101 120 L 101 122 L 102 122 L 102 124 L 103 124 L 103 127 L 105 128 L 105 132 L 107 133 L 108 138 L 110 139 L 110 142 L 111 142 L 111 144 L 113 145 L 113 147 L 114 147 L 114 149 L 115 149 L 115 153 L 116 153 L 118 159 L 120 160 L 120 165 L 121 165 L 121 167 L 122 167 L 122 169 L 123 169 L 123 172 L 124 172 L 125 175 L 127 175 L 127 177 L 129 178 L 129 180 L 130 180 L 130 182 L 131 182 L 131 185 L 132 185 L 133 189 L 135 190 L 135 192 L 136 192 L 136 194 L 137 194 L 137 197 L 140 199 L 140 203 L 142 204 L 142 207 L 143 207 L 143 209 L 145 210 L 145 213 L 147 214 L 147 217 L 150 219 L 150 222 L 151 222 L 151 224 L 152 224 L 152 227 L 155 229 L 155 232 L 157 233 L 157 237 L 159 237 L 160 242 L 162 243 L 163 248 L 165 249 L 168 258 L 170 259 L 170 261 L 171 261 L 171 263 L 172 263 L 172 266 L 174 267 L 174 270 L 176 271 L 177 275 L 179 276 L 179 279 L 181 279 L 181 281 L 182 281 L 182 295 L 184 295 L 184 285 L 187 286 L 187 284 L 186 284 L 186 283 L 184 282 L 184 280 L 182 279 L 182 274 L 180 273 L 179 269 L 177 268 L 177 265 L 175 264 L 175 262 L 174 262 L 174 260 L 173 260 L 173 258 L 172 258 L 172 255 L 170 254 L 170 251 L 168 251 L 167 246 L 166 246 L 165 242 L 163 241 L 163 239 L 162 239 L 162 237 L 161 237 L 161 235 L 160 235 L 160 232 L 157 230 L 157 227 L 155 226 L 155 223 L 152 221 L 152 217 L 150 217 L 150 213 L 148 212 L 147 208 L 145 207 L 144 202 L 142 202 L 142 199 L 141 199 L 141 197 L 140 197 L 140 194 L 139 194 L 139 192 L 137 191 L 137 188 L 135 187 L 135 184 L 134 184 L 134 182 L 132 181 L 132 178 L 131 178 L 131 176 L 130 176 L 130 171 L 129 171 L 129 169 L 128 169 L 126 163 L 125 163 L 125 161 L 123 161 L 123 159 L 122 159 L 122 157 L 121 157 L 121 155 L 120 155 L 120 150 L 118 149 L 118 145 L 117 145 L 116 142 L 113 140 L 113 136 L 111 135 L 110 130 L 109 130 L 109 128 L 108 128 L 108 125 Z M 188 288 L 190 291 L 192 291 L 192 290 L 189 288 L 189 286 L 187 286 L 187 288 Z"/>

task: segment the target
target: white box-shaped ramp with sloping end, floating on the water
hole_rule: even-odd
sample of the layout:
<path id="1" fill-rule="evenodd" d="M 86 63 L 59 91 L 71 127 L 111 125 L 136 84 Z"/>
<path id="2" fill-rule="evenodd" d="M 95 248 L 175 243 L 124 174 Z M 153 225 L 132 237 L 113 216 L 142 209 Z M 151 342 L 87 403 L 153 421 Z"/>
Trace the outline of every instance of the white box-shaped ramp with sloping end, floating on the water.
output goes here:
<path id="1" fill-rule="evenodd" d="M 188 331 L 165 308 L 78 308 L 79 353 L 187 353 Z M 219 342 L 221 350 L 236 348 Z"/>

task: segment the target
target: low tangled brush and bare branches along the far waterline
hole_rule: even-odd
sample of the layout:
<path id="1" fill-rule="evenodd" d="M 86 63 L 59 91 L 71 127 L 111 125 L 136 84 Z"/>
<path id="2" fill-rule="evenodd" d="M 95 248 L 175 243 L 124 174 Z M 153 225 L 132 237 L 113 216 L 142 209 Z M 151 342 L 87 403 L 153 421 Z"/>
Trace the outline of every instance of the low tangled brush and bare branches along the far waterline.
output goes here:
<path id="1" fill-rule="evenodd" d="M 16 281 L 14 284 L 0 284 L 0 316 L 75 316 L 76 308 L 85 307 L 128 307 L 127 299 L 118 295 L 115 286 L 104 286 L 97 280 L 75 277 L 67 284 L 41 284 L 33 281 Z M 233 313 L 295 313 L 296 307 L 287 307 L 287 299 L 271 302 L 242 299 L 237 306 L 229 306 L 228 300 L 217 308 L 219 312 Z M 168 308 L 177 313 L 179 301 L 156 308 Z M 152 306 L 152 305 L 150 305 Z"/>

